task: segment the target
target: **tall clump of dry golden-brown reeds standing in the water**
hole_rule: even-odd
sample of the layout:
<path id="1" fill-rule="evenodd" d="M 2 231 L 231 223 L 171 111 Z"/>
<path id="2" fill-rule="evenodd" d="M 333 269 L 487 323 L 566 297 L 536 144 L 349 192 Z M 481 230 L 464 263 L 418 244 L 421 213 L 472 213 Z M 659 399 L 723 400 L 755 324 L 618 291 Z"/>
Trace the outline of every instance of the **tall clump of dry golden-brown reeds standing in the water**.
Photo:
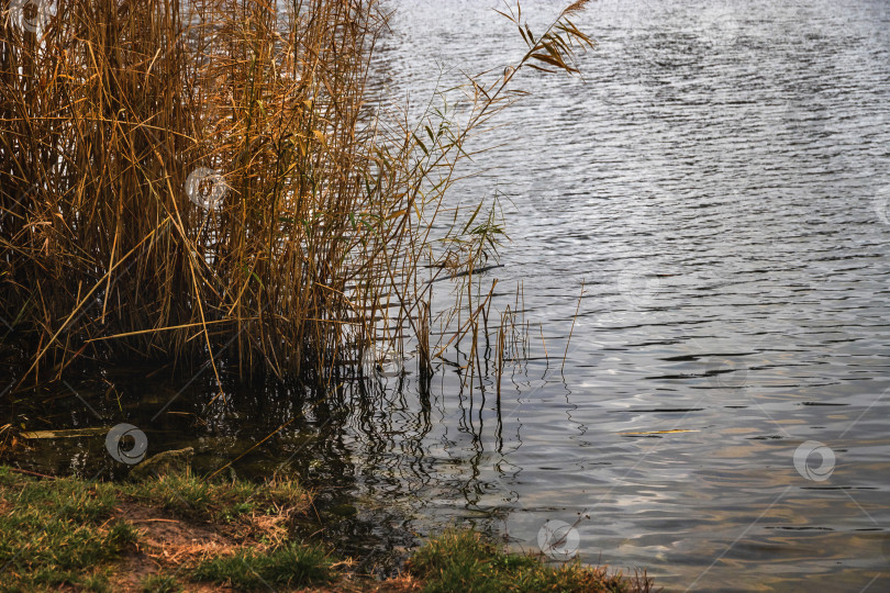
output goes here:
<path id="1" fill-rule="evenodd" d="M 519 68 L 576 71 L 572 44 L 591 45 L 568 21 L 579 4 L 539 38 L 511 11 L 522 61 L 489 87 L 470 79 L 466 122 L 433 110 L 414 125 L 366 105 L 375 0 L 7 11 L 0 316 L 30 359 L 20 385 L 78 358 L 329 384 L 380 340 L 413 342 L 429 371 L 421 271 L 471 279 L 500 233 L 479 204 L 431 248 L 454 168 Z"/>

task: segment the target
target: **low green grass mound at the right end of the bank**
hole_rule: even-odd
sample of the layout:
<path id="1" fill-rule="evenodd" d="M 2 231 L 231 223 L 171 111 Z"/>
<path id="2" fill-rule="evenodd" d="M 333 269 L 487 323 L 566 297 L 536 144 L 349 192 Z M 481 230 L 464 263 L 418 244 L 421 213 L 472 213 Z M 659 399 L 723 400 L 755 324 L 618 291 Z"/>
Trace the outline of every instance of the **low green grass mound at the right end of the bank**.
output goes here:
<path id="1" fill-rule="evenodd" d="M 609 574 L 577 561 L 553 567 L 539 557 L 504 553 L 469 530 L 449 530 L 431 539 L 409 560 L 408 570 L 424 581 L 424 593 L 631 593 L 649 588 L 645 579 Z"/>

